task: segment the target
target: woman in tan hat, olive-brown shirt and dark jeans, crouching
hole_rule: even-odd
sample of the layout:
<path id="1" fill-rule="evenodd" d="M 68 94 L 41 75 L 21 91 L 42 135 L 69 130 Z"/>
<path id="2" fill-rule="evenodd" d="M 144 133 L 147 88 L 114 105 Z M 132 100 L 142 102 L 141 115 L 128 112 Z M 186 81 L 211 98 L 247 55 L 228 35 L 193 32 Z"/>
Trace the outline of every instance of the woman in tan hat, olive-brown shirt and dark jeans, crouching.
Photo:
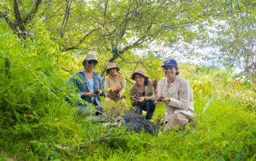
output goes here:
<path id="1" fill-rule="evenodd" d="M 139 114 L 142 114 L 142 110 L 146 111 L 146 120 L 151 120 L 156 109 L 154 86 L 142 70 L 132 73 L 131 79 L 135 81 L 130 88 L 132 106 L 136 106 L 136 112 Z"/>

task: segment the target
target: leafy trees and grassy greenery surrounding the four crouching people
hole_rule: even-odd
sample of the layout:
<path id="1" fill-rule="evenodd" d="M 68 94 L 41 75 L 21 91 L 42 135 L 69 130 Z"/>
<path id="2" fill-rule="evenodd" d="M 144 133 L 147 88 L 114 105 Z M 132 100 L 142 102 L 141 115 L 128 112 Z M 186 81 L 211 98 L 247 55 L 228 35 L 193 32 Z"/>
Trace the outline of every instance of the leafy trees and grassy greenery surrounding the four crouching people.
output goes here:
<path id="1" fill-rule="evenodd" d="M 255 8 L 252 0 L 0 0 L 0 160 L 256 160 Z M 67 81 L 88 53 L 102 78 L 109 62 L 120 67 L 128 107 L 132 73 L 159 81 L 162 63 L 176 59 L 195 121 L 151 135 L 88 119 L 66 101 L 77 99 Z M 158 104 L 152 124 L 163 114 Z"/>

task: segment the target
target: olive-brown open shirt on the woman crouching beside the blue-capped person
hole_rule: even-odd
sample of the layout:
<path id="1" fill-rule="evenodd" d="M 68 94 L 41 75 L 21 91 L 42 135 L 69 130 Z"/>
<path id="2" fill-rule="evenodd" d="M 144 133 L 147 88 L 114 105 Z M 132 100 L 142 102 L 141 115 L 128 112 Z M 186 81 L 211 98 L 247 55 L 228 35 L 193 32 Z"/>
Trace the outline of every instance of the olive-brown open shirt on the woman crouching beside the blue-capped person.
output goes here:
<path id="1" fill-rule="evenodd" d="M 135 83 L 132 88 L 130 88 L 130 101 L 132 102 L 132 96 L 150 96 L 151 100 L 154 100 L 154 98 L 156 97 L 154 94 L 154 87 L 150 84 L 150 82 L 148 82 L 148 85 L 145 86 L 145 95 L 143 95 L 142 92 L 140 92 L 140 90 L 138 90 L 138 85 Z M 140 105 L 144 106 L 145 102 L 141 102 L 139 103 Z M 132 102 L 132 106 L 134 106 L 134 102 Z"/>

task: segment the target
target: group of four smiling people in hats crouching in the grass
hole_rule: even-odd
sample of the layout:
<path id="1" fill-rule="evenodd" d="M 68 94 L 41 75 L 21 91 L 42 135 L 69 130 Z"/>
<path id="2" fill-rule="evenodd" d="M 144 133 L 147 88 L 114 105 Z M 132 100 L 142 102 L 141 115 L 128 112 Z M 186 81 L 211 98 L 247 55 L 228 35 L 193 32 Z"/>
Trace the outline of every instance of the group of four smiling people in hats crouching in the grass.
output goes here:
<path id="1" fill-rule="evenodd" d="M 120 69 L 115 63 L 108 63 L 108 76 L 103 81 L 102 77 L 94 72 L 97 63 L 96 55 L 86 55 L 82 63 L 84 69 L 72 75 L 68 84 L 76 88 L 80 98 L 94 106 L 103 108 L 100 96 L 106 96 L 105 101 L 121 101 L 125 104 L 126 79 L 118 73 Z M 188 81 L 178 76 L 178 64 L 175 60 L 167 60 L 161 67 L 166 77 L 159 82 L 150 81 L 142 70 L 132 73 L 131 79 L 135 84 L 130 88 L 130 101 L 132 106 L 136 106 L 137 113 L 146 111 L 147 120 L 152 119 L 156 104 L 164 103 L 165 114 L 160 120 L 160 123 L 164 124 L 164 131 L 174 126 L 182 129 L 189 121 L 194 120 L 193 91 Z M 82 112 L 90 113 L 86 105 L 80 104 L 78 108 Z"/>

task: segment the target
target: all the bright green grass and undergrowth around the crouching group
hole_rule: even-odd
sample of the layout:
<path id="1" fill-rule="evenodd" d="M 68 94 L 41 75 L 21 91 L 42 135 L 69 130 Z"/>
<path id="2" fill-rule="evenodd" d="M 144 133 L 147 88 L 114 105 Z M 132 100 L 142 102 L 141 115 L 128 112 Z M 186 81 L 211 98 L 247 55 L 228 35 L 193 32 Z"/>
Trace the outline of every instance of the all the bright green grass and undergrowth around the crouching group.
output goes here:
<path id="1" fill-rule="evenodd" d="M 88 120 L 68 104 L 64 98 L 71 73 L 55 63 L 57 45 L 49 39 L 33 39 L 27 47 L 9 33 L 0 34 L 0 40 L 1 160 L 256 158 L 255 84 L 233 81 L 230 73 L 217 69 L 212 77 L 209 71 L 189 77 L 194 66 L 184 65 L 180 71 L 195 94 L 196 120 L 185 130 L 152 136 Z M 158 105 L 153 122 L 163 114 L 164 106 Z"/>

